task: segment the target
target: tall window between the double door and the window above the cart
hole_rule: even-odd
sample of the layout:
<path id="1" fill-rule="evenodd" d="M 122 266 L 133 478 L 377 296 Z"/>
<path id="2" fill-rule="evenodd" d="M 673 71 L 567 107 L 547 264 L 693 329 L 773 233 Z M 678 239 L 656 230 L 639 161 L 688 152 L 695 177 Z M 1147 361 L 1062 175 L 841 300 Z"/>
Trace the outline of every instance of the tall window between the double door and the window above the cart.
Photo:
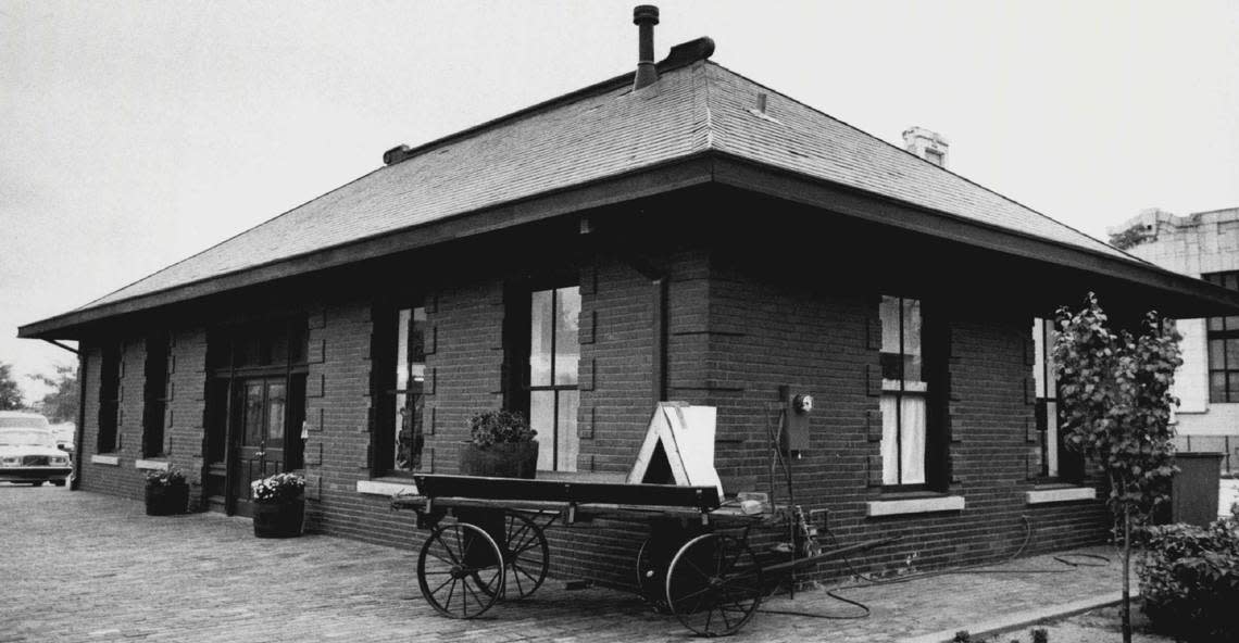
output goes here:
<path id="1" fill-rule="evenodd" d="M 426 308 L 380 307 L 375 320 L 374 473 L 406 475 L 425 444 Z"/>

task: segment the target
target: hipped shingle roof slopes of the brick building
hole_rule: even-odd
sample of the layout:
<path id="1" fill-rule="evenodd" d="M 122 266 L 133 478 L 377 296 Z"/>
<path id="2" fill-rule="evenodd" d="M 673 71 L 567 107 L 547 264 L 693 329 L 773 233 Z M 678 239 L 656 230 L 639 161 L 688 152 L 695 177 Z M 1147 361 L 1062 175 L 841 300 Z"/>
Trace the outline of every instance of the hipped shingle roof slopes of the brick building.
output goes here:
<path id="1" fill-rule="evenodd" d="M 622 79 L 427 144 L 78 311 L 704 152 L 1093 253 L 1124 253 L 709 61 Z M 768 94 L 764 114 L 757 93 Z"/>

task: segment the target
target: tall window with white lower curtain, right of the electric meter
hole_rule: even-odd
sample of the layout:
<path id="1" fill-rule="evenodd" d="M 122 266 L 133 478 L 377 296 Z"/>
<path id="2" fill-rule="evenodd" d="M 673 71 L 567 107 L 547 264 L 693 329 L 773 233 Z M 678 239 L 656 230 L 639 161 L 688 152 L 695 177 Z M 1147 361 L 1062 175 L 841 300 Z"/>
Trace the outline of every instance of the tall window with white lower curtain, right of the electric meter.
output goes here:
<path id="1" fill-rule="evenodd" d="M 921 302 L 882 296 L 882 484 L 924 486 L 929 385 L 921 352 Z"/>

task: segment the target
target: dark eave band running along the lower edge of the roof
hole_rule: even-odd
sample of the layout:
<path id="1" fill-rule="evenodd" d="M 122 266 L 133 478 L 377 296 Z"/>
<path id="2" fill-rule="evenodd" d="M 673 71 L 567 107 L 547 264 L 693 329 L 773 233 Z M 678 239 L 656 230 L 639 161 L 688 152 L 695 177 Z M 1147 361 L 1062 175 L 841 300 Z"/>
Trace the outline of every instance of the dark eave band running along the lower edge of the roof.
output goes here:
<path id="1" fill-rule="evenodd" d="M 102 306 L 74 310 L 19 328 L 17 336 L 73 339 L 84 327 L 120 315 L 191 301 L 278 279 L 338 268 L 595 207 L 716 182 L 819 207 L 862 221 L 963 243 L 1007 255 L 1063 265 L 1154 287 L 1182 299 L 1198 316 L 1239 312 L 1239 294 L 1135 259 L 1125 260 L 1075 245 L 989 225 L 821 178 L 757 164 L 711 150 L 589 183 L 461 213 L 451 218 L 374 235 L 332 248 L 216 275 L 172 289 Z M 1182 316 L 1182 315 L 1181 315 Z"/>

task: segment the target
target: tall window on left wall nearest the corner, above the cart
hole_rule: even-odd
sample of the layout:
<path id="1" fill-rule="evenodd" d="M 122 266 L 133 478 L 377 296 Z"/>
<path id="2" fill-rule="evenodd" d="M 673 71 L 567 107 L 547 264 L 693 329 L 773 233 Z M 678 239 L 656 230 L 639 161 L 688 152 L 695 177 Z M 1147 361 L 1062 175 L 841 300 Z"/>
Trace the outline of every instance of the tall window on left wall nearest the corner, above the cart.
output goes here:
<path id="1" fill-rule="evenodd" d="M 581 290 L 538 290 L 529 305 L 529 425 L 538 431 L 538 468 L 576 471 Z"/>

